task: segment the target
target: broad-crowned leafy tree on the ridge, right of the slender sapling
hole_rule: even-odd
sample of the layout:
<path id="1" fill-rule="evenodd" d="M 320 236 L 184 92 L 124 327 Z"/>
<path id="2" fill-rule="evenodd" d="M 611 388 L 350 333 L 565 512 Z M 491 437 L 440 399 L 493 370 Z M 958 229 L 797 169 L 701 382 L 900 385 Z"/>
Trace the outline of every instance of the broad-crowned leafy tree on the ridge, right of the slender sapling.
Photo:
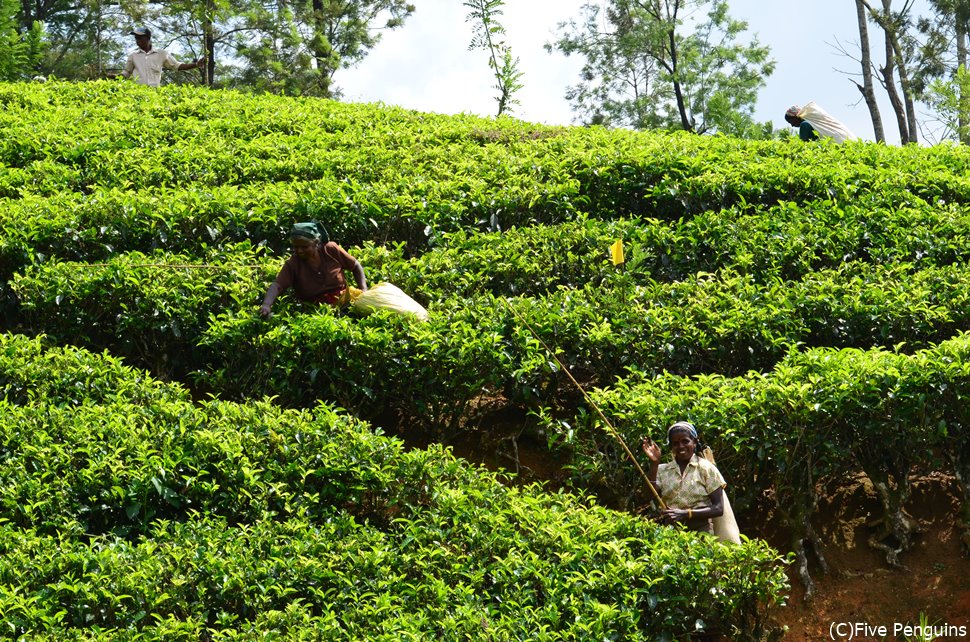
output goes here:
<path id="1" fill-rule="evenodd" d="M 736 42 L 747 24 L 728 16 L 726 0 L 604 4 L 584 5 L 582 22 L 561 23 L 558 40 L 546 45 L 585 57 L 580 82 L 566 97 L 587 122 L 697 133 L 752 129 L 757 92 L 775 63 L 757 39 Z"/>

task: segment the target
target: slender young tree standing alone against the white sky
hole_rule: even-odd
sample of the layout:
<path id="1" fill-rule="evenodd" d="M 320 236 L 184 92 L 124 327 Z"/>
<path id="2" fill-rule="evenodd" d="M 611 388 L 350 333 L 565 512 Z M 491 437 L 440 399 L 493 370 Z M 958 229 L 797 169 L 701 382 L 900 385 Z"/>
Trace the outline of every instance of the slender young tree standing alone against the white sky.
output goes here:
<path id="1" fill-rule="evenodd" d="M 495 75 L 495 88 L 499 95 L 498 116 L 511 111 L 512 105 L 519 104 L 514 98 L 515 92 L 522 89 L 522 72 L 519 71 L 519 59 L 512 57 L 511 48 L 505 44 L 505 28 L 499 23 L 498 16 L 502 15 L 503 0 L 467 0 L 465 6 L 471 9 L 466 22 L 472 23 L 472 41 L 469 49 L 484 49 L 488 51 L 488 66 Z"/>

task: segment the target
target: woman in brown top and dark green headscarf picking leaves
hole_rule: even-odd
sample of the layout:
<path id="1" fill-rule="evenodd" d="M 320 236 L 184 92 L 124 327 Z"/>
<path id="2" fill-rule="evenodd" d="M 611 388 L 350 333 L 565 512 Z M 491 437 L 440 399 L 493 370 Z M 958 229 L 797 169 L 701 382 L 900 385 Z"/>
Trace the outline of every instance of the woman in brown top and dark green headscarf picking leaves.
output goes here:
<path id="1" fill-rule="evenodd" d="M 293 256 L 286 260 L 276 275 L 259 313 L 268 317 L 280 293 L 292 287 L 296 298 L 318 304 L 344 305 L 349 302 L 344 270 L 350 271 L 357 287 L 367 290 L 367 278 L 360 261 L 327 236 L 316 222 L 297 223 L 290 230 Z"/>

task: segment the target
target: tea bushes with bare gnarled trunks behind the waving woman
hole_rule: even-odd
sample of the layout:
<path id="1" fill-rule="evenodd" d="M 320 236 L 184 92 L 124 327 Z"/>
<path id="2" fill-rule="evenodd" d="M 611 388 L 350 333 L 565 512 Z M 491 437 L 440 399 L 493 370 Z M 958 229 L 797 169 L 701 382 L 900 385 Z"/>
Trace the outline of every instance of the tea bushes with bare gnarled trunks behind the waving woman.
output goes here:
<path id="1" fill-rule="evenodd" d="M 765 374 L 633 376 L 592 396 L 630 443 L 644 433 L 662 440 L 674 420 L 694 421 L 740 489 L 740 505 L 771 490 L 811 587 L 805 545 L 818 544 L 813 516 L 821 485 L 856 471 L 872 480 L 884 510 L 873 544 L 895 564 L 917 530 L 905 514 L 910 474 L 940 469 L 947 465 L 940 454 L 953 453 L 945 459 L 966 479 L 965 458 L 955 453 L 965 450 L 958 441 L 967 422 L 954 401 L 967 394 L 970 369 L 954 357 L 968 341 L 961 334 L 912 355 L 819 348 L 793 353 Z M 595 417 L 568 433 L 548 425 L 572 442 L 578 471 L 633 496 L 640 482 Z M 964 494 L 965 486 L 961 481 Z"/>

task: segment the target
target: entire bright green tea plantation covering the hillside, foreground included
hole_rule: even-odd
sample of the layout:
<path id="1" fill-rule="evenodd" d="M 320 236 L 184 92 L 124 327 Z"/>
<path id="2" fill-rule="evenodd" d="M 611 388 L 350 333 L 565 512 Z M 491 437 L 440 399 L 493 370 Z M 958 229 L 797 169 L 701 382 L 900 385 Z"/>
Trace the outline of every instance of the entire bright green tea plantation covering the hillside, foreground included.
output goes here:
<path id="1" fill-rule="evenodd" d="M 965 148 L 109 81 L 0 105 L 0 635 L 762 639 L 786 565 L 812 588 L 820 484 L 858 473 L 888 563 L 916 471 L 958 479 L 970 541 Z M 429 320 L 263 320 L 309 219 Z M 568 375 L 628 444 L 695 422 L 790 550 L 636 514 Z M 469 433 L 562 472 L 437 445 Z"/>

